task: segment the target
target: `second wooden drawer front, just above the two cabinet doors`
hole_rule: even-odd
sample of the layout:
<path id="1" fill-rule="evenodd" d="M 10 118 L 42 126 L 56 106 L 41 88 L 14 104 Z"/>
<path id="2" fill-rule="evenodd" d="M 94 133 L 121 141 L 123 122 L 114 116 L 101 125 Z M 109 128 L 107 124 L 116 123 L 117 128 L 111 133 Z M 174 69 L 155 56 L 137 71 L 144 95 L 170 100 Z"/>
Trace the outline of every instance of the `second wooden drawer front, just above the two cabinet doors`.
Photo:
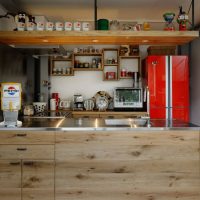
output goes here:
<path id="1" fill-rule="evenodd" d="M 54 159 L 54 145 L 0 145 L 0 159 Z"/>

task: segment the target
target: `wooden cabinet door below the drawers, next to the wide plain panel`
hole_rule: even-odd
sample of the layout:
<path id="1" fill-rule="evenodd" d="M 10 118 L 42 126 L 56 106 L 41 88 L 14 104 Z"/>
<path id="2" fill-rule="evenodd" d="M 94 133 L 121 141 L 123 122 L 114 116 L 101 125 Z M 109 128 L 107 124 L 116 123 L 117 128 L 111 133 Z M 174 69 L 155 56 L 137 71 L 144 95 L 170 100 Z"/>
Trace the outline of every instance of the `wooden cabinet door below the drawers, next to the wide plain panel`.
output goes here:
<path id="1" fill-rule="evenodd" d="M 22 163 L 22 200 L 54 199 L 54 160 Z"/>

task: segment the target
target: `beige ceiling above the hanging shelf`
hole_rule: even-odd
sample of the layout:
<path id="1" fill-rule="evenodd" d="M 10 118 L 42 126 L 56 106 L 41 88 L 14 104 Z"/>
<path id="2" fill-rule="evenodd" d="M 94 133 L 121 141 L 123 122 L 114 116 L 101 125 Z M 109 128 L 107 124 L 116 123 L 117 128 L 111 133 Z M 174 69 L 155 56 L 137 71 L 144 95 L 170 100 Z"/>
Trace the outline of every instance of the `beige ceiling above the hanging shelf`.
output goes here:
<path id="1" fill-rule="evenodd" d="M 32 15 L 45 15 L 49 20 L 93 20 L 94 0 L 7 0 Z M 97 0 L 98 18 L 117 20 L 163 21 L 165 12 L 188 12 L 191 0 Z M 3 1 L 0 1 L 3 2 Z M 4 1 L 5 2 L 5 1 Z M 200 23 L 200 1 L 195 0 L 195 24 Z M 190 12 L 191 13 L 191 12 Z M 191 19 L 191 14 L 190 14 Z"/>

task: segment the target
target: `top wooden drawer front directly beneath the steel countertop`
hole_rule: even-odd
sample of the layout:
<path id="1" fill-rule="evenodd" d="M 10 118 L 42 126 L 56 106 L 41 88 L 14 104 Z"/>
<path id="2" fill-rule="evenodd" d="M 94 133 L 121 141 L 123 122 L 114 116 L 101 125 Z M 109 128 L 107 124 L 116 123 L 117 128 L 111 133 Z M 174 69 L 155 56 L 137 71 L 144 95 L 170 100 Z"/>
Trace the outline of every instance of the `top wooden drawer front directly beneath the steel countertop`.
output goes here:
<path id="1" fill-rule="evenodd" d="M 0 144 L 53 144 L 54 132 L 0 131 Z"/>

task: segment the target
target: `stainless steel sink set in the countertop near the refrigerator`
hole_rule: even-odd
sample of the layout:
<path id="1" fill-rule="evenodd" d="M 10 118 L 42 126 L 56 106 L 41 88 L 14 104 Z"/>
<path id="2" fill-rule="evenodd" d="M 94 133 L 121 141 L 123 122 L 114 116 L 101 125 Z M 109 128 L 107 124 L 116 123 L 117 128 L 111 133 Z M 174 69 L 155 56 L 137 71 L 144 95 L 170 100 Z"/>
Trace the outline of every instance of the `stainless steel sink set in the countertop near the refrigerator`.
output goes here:
<path id="1" fill-rule="evenodd" d="M 146 126 L 147 119 L 105 119 L 105 124 L 108 126 Z"/>

